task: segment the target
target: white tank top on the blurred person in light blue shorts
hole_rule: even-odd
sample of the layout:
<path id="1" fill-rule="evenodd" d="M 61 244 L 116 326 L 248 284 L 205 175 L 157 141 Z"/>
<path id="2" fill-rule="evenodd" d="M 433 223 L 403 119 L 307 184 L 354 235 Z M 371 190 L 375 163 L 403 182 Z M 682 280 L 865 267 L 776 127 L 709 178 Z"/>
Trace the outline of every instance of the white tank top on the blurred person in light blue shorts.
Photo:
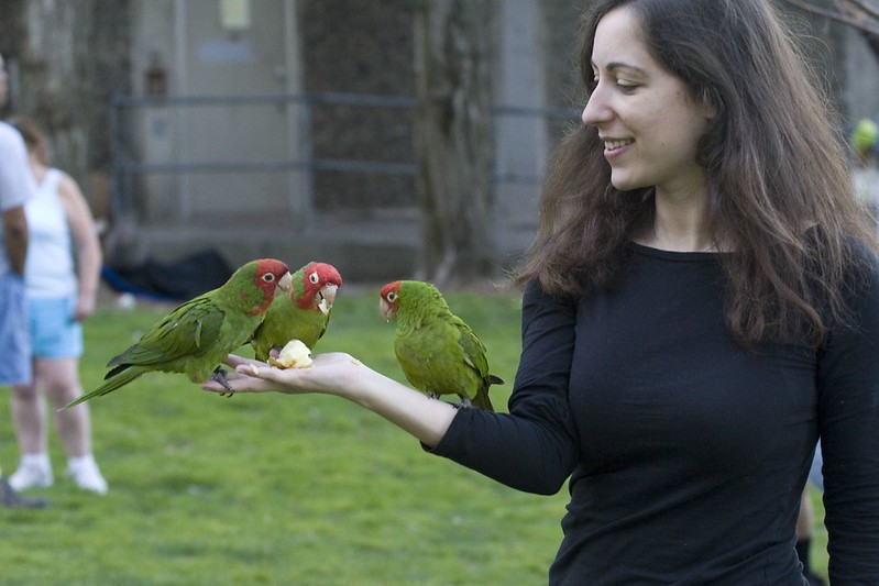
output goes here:
<path id="1" fill-rule="evenodd" d="M 31 297 L 69 297 L 78 288 L 67 211 L 58 198 L 61 177 L 58 169 L 48 169 L 24 206 L 29 234 L 24 280 Z"/>

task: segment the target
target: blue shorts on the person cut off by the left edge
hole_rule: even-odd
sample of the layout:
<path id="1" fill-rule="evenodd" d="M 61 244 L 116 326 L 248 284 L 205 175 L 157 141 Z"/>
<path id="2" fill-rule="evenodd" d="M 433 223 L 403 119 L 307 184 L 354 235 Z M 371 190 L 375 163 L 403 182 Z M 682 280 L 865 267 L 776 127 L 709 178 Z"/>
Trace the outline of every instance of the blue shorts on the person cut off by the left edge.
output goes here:
<path id="1" fill-rule="evenodd" d="M 0 275 L 0 385 L 26 385 L 33 377 L 24 279 Z"/>

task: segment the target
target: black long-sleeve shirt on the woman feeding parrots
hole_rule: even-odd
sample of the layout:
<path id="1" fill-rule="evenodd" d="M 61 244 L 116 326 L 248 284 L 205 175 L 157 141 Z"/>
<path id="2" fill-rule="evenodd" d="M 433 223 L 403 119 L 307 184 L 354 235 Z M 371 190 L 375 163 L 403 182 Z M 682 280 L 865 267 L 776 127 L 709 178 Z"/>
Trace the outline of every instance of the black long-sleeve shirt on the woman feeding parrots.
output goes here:
<path id="1" fill-rule="evenodd" d="M 879 270 L 821 347 L 741 347 L 723 298 L 716 255 L 638 245 L 611 291 L 526 289 L 509 413 L 460 410 L 433 452 L 526 491 L 570 477 L 550 584 L 802 585 L 818 436 L 832 583 L 879 584 Z"/>

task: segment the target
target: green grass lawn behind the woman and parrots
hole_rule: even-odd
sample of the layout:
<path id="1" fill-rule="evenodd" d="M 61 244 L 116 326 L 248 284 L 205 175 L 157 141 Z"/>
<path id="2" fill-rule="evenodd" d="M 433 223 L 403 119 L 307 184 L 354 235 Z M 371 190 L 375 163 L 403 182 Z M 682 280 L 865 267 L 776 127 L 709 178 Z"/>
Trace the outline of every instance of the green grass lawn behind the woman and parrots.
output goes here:
<path id="1" fill-rule="evenodd" d="M 520 349 L 518 296 L 448 300 L 507 382 L 492 394 L 505 409 Z M 343 291 L 317 350 L 350 352 L 403 380 L 377 301 L 372 290 Z M 105 308 L 90 319 L 86 389 L 167 309 Z M 55 486 L 30 493 L 51 507 L 0 509 L 3 585 L 531 585 L 546 583 L 561 539 L 565 490 L 540 497 L 501 486 L 333 397 L 222 398 L 183 375 L 150 374 L 90 406 L 110 491 L 94 496 L 61 476 L 53 429 Z M 0 463 L 11 473 L 17 462 L 7 420 Z M 820 532 L 822 572 L 823 540 Z"/>

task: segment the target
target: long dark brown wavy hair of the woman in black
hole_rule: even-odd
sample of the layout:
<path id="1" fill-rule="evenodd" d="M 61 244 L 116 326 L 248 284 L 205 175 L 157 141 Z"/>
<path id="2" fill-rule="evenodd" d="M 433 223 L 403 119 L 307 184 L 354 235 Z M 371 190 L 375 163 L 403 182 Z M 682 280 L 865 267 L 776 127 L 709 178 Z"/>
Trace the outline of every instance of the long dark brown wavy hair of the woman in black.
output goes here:
<path id="1" fill-rule="evenodd" d="M 766 0 L 596 0 L 582 22 L 586 92 L 597 23 L 623 5 L 653 58 L 717 113 L 699 163 L 710 185 L 705 225 L 733 251 L 721 255 L 729 331 L 744 345 L 818 342 L 847 317 L 844 275 L 865 245 L 876 252 L 818 78 Z M 580 297 L 613 287 L 624 270 L 628 241 L 652 222 L 653 190 L 615 189 L 603 148 L 583 125 L 560 146 L 518 285 L 537 278 L 551 294 Z"/>

